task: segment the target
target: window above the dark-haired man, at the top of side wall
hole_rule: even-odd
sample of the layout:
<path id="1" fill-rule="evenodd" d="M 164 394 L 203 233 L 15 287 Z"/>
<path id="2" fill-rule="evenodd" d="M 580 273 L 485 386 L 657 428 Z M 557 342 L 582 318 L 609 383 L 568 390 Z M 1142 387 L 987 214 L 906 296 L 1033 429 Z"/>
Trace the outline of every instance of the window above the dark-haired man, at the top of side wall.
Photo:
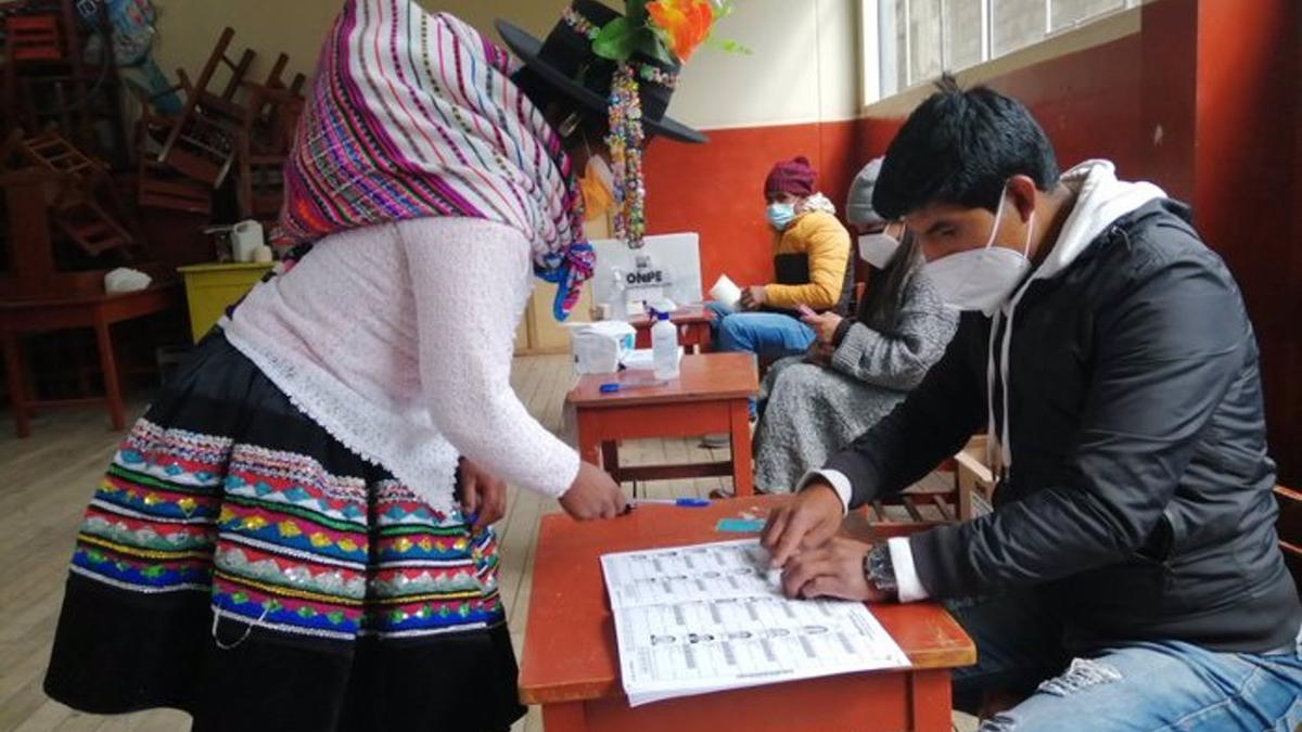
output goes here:
<path id="1" fill-rule="evenodd" d="M 1087 25 L 1139 0 L 863 0 L 889 96 Z"/>

